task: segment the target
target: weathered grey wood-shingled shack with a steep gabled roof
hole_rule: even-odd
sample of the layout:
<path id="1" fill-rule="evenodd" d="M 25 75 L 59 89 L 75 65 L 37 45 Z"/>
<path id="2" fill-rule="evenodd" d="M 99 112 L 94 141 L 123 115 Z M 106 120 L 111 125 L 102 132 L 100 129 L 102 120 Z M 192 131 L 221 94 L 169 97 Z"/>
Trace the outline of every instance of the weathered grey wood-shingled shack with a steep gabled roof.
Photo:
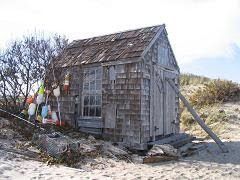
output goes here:
<path id="1" fill-rule="evenodd" d="M 179 132 L 179 98 L 166 78 L 178 86 L 180 72 L 165 25 L 75 40 L 54 68 L 61 89 L 70 74 L 61 116 L 80 131 L 137 149 Z"/>

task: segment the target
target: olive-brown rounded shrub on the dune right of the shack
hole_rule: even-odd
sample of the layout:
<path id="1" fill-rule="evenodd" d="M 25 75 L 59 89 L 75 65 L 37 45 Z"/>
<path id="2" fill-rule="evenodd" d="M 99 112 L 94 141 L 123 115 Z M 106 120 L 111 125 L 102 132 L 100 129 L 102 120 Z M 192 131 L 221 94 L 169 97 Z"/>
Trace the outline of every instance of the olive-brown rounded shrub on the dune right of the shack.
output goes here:
<path id="1" fill-rule="evenodd" d="M 212 80 L 189 97 L 191 104 L 201 108 L 218 102 L 231 100 L 240 92 L 238 84 L 227 80 Z"/>

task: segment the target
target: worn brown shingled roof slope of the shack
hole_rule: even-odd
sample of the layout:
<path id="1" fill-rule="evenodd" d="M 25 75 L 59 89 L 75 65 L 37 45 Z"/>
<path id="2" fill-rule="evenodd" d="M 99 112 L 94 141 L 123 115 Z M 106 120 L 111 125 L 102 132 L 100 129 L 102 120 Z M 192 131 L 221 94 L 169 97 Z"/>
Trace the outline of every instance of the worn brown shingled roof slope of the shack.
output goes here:
<path id="1" fill-rule="evenodd" d="M 74 40 L 57 58 L 55 65 L 67 67 L 140 57 L 161 26 Z"/>

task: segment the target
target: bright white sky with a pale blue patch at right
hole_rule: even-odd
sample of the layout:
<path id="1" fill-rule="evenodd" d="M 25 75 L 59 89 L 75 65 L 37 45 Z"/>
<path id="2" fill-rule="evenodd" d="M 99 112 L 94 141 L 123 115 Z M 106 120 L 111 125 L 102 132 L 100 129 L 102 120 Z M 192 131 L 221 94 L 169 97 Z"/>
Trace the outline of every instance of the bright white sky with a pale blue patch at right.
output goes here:
<path id="1" fill-rule="evenodd" d="M 72 41 L 163 23 L 181 72 L 240 83 L 240 0 L 0 0 L 0 49 L 35 31 Z"/>

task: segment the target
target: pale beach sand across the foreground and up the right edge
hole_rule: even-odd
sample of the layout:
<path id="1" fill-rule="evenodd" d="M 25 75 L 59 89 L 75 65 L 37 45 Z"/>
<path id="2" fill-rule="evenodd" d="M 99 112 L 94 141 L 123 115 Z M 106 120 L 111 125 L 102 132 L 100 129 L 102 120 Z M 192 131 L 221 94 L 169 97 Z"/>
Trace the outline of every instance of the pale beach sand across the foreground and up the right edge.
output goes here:
<path id="1" fill-rule="evenodd" d="M 0 179 L 240 179 L 240 103 L 224 107 L 234 114 L 229 131 L 221 135 L 229 153 L 222 153 L 215 143 L 206 141 L 207 149 L 178 161 L 133 164 L 109 160 L 111 166 L 107 168 L 98 166 L 86 171 L 47 166 L 0 150 Z"/>

